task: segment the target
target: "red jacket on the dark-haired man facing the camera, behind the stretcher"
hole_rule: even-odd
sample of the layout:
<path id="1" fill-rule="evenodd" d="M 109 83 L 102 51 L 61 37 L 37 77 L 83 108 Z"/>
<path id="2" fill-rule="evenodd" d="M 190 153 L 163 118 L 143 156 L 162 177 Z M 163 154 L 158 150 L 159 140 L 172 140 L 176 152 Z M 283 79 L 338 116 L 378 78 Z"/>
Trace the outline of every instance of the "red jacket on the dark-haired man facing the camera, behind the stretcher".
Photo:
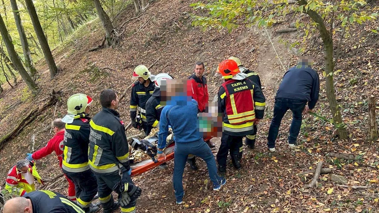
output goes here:
<path id="1" fill-rule="evenodd" d="M 200 80 L 200 78 L 196 77 L 195 74 L 188 78 L 191 79 L 192 98 L 197 101 L 199 111 L 205 112 L 205 107 L 207 106 L 209 99 L 207 78 L 202 76 Z"/>

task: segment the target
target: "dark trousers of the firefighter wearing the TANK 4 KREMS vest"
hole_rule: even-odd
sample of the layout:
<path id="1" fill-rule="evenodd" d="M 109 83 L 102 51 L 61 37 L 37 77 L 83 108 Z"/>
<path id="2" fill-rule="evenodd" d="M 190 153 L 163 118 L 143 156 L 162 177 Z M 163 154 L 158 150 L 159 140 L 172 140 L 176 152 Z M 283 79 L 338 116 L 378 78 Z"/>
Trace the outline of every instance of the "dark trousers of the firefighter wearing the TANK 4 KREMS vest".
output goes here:
<path id="1" fill-rule="evenodd" d="M 221 145 L 216 156 L 219 166 L 226 167 L 226 159 L 229 152 L 230 156 L 237 155 L 239 159 L 242 158 L 242 139 L 243 136 L 231 136 L 222 132 Z"/>

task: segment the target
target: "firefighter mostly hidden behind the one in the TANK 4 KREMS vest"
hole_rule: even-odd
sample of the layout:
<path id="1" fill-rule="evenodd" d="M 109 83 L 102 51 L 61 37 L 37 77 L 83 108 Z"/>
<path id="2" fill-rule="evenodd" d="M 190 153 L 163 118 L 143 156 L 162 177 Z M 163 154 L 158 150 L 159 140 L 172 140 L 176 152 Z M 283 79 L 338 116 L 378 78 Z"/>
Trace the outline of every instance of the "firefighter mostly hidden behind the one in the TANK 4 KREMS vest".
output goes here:
<path id="1" fill-rule="evenodd" d="M 244 74 L 247 74 L 247 79 L 251 80 L 252 82 L 254 82 L 256 85 L 259 86 L 259 88 L 262 90 L 262 84 L 260 82 L 260 78 L 258 76 L 258 74 L 254 71 L 251 71 L 249 69 L 247 69 L 246 67 L 244 67 L 240 61 L 240 59 L 236 58 L 236 57 L 230 57 L 229 58 L 230 60 L 233 60 L 237 63 L 238 65 L 238 69 L 240 70 L 240 72 L 243 72 Z M 255 106 L 255 110 L 265 110 L 265 106 Z M 245 144 L 250 147 L 251 149 L 254 149 L 255 147 L 255 137 L 257 136 L 257 124 L 254 124 L 254 133 L 253 135 L 246 135 L 246 139 L 245 139 Z"/>

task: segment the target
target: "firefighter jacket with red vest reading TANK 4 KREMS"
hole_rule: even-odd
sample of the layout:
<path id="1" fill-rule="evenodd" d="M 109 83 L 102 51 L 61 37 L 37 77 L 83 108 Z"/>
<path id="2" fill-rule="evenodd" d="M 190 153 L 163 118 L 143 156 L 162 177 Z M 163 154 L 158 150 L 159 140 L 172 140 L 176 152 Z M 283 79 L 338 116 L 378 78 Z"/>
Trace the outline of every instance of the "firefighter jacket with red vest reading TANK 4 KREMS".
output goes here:
<path id="1" fill-rule="evenodd" d="M 252 102 L 248 103 L 247 100 Z M 249 79 L 226 80 L 218 91 L 218 106 L 219 112 L 223 113 L 224 132 L 232 136 L 252 135 L 254 119 L 263 118 L 265 101 L 259 86 Z M 232 118 L 233 122 L 229 121 Z"/>

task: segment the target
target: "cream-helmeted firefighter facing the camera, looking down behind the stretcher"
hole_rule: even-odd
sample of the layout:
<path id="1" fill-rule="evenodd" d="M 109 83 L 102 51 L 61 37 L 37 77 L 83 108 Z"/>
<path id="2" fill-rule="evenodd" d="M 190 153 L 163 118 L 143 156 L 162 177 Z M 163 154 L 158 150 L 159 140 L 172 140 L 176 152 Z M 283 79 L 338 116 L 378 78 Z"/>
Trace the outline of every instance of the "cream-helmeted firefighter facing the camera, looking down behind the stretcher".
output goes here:
<path id="1" fill-rule="evenodd" d="M 154 91 L 154 76 L 151 75 L 146 66 L 139 65 L 134 69 L 133 77 L 138 77 L 138 80 L 132 87 L 130 97 L 130 119 L 132 119 L 132 126 L 139 130 L 143 128 L 145 135 L 147 136 L 149 135 L 151 128 L 147 125 L 145 105 Z M 138 115 L 137 107 L 139 107 Z"/>

